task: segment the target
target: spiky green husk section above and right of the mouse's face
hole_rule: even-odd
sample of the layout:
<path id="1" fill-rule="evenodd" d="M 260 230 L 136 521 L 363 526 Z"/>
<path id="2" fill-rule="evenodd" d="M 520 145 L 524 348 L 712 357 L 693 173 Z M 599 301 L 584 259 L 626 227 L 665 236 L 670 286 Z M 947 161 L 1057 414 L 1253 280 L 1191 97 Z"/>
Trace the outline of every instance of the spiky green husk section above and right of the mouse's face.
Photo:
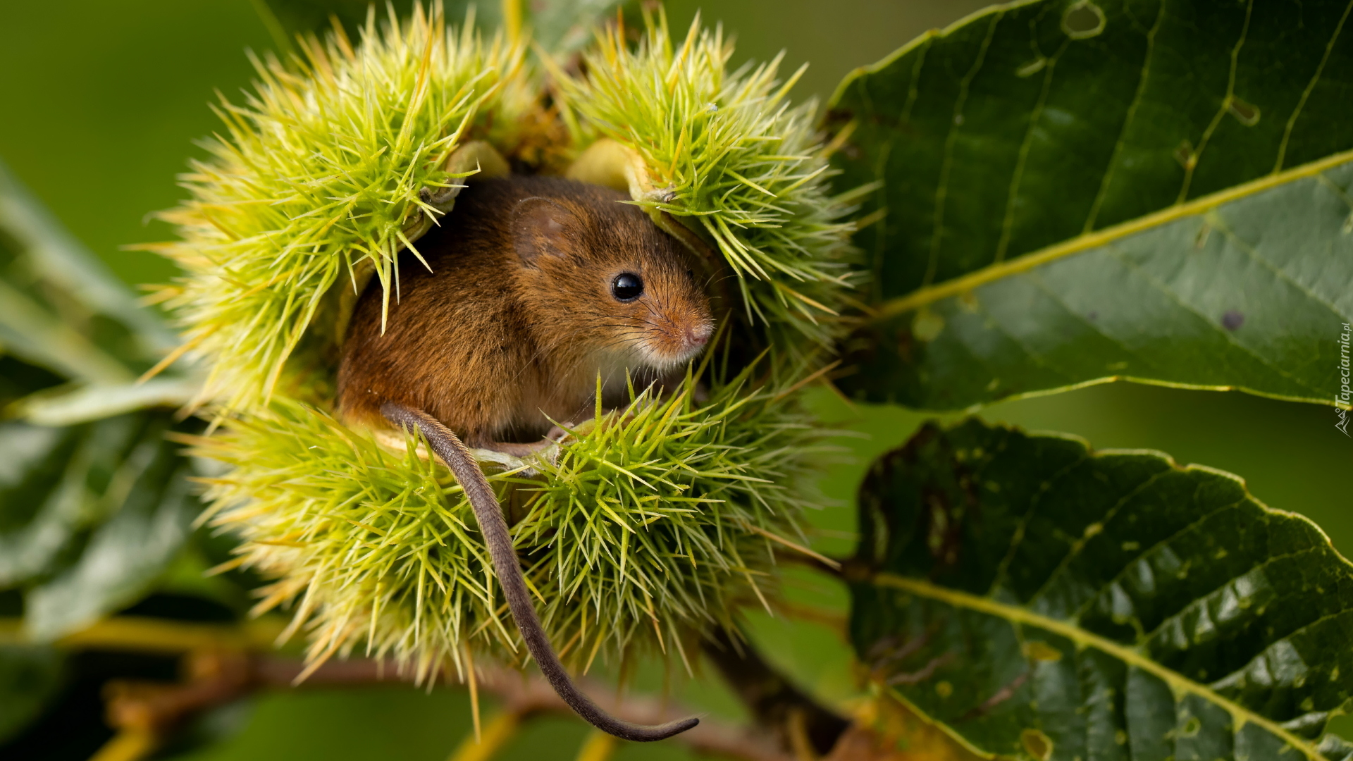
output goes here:
<path id="1" fill-rule="evenodd" d="M 786 97 L 802 69 L 783 84 L 778 57 L 729 73 L 721 30 L 697 18 L 674 47 L 664 15 L 645 23 L 635 49 L 624 28 L 598 32 L 586 76 L 556 70 L 574 141 L 606 137 L 639 153 L 653 190 L 636 200 L 717 244 L 781 351 L 798 334 L 829 345 L 850 287 L 852 227 L 839 221 L 850 199 L 829 196 L 816 104 Z"/>

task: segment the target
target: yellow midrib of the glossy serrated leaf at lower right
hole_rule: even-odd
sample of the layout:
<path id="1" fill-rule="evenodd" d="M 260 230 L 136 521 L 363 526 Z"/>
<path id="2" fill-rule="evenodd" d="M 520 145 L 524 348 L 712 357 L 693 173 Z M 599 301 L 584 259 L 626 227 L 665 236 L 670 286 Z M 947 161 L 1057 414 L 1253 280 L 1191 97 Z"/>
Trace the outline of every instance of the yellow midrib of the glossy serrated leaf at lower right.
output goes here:
<path id="1" fill-rule="evenodd" d="M 1180 674 L 1178 672 L 1168 669 L 1161 664 L 1157 664 L 1155 661 L 1151 661 L 1150 658 L 1139 653 L 1135 647 L 1120 645 L 1105 636 L 1091 634 L 1066 622 L 1050 619 L 1047 616 L 1035 613 L 1022 607 L 999 603 L 990 597 L 978 597 L 967 592 L 948 589 L 917 578 L 905 578 L 892 573 L 877 573 L 869 581 L 877 586 L 890 586 L 894 589 L 901 589 L 904 592 L 909 592 L 920 597 L 946 603 L 955 608 L 965 608 L 969 611 L 986 613 L 990 616 L 996 616 L 999 619 L 1004 619 L 1011 623 L 1034 626 L 1058 634 L 1061 636 L 1065 636 L 1066 639 L 1074 642 L 1077 647 L 1093 647 L 1109 657 L 1118 658 L 1119 661 L 1127 664 L 1128 666 L 1150 673 L 1151 676 L 1170 685 L 1170 688 L 1173 688 L 1176 692 L 1187 692 L 1191 695 L 1196 695 L 1203 700 L 1212 703 L 1214 705 L 1224 708 L 1235 720 L 1234 731 L 1239 731 L 1245 723 L 1253 723 L 1265 729 L 1275 737 L 1281 738 L 1284 742 L 1287 742 L 1296 750 L 1300 750 L 1307 758 L 1312 761 L 1329 761 L 1323 754 L 1321 754 L 1319 750 L 1316 750 L 1314 745 L 1292 734 L 1289 730 L 1284 729 L 1277 722 L 1273 722 L 1266 716 L 1261 716 L 1254 711 L 1250 711 L 1249 708 L 1245 708 L 1243 705 L 1220 696 L 1211 688 L 1201 685 L 1193 680 L 1189 680 L 1188 677 Z"/>

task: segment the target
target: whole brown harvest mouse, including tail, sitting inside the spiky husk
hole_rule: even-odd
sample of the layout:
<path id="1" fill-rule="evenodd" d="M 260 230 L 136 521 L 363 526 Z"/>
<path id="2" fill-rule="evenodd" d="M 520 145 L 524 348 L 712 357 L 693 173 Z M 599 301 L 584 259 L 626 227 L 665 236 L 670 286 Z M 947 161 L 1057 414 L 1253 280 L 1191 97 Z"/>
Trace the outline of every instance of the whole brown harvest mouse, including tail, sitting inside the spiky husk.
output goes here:
<path id="1" fill-rule="evenodd" d="M 568 677 L 536 615 L 507 523 L 472 447 L 525 454 L 551 420 L 681 371 L 709 343 L 709 301 L 681 244 L 624 194 L 557 177 L 467 188 L 440 229 L 405 256 L 382 330 L 377 283 L 344 343 L 338 402 L 349 422 L 419 431 L 469 498 L 517 628 L 555 692 L 593 726 L 655 741 L 695 726 L 621 722 Z M 430 271 L 429 271 L 430 268 Z M 610 397 L 610 404 L 607 404 Z M 544 441 L 548 443 L 548 441 Z"/>

